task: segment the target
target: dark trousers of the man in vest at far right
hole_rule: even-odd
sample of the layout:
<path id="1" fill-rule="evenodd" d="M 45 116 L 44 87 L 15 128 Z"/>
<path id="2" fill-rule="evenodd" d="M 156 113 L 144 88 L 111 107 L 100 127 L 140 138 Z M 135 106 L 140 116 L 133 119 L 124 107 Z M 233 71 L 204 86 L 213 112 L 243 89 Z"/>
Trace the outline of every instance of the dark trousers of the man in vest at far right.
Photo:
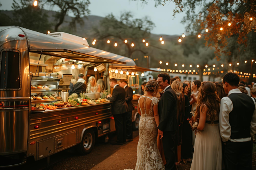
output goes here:
<path id="1" fill-rule="evenodd" d="M 252 170 L 252 141 L 226 142 L 226 170 Z"/>

